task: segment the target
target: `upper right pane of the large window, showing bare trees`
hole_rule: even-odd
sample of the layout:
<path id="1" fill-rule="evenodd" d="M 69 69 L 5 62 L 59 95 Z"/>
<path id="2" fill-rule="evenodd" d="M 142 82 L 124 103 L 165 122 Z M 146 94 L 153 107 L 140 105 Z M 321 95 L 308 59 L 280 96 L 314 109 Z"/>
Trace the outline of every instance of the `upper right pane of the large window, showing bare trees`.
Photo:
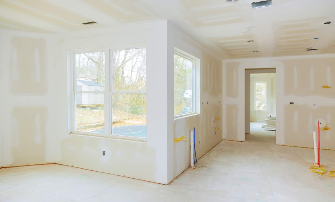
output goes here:
<path id="1" fill-rule="evenodd" d="M 113 90 L 146 91 L 146 49 L 113 51 Z"/>

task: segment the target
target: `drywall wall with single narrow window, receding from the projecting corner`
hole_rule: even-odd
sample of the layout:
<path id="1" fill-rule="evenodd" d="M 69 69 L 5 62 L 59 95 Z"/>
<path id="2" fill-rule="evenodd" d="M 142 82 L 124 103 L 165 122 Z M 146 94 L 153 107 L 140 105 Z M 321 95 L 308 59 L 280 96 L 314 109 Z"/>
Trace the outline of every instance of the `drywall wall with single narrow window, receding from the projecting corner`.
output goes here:
<path id="1" fill-rule="evenodd" d="M 196 115 L 174 118 L 174 50 L 175 47 L 200 59 L 196 65 Z M 190 166 L 190 131 L 196 128 L 197 157 L 222 140 L 222 62 L 209 54 L 203 46 L 167 23 L 167 176 L 170 182 Z M 216 121 L 216 122 L 214 122 Z M 215 128 L 219 129 L 215 129 Z M 188 141 L 174 143 L 174 138 L 185 136 Z"/>

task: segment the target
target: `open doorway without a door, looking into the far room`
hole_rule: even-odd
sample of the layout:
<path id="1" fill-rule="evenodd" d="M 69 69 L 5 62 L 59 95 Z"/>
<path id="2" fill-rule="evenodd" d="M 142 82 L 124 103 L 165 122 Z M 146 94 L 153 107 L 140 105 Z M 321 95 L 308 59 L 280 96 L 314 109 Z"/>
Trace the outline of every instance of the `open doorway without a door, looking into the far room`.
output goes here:
<path id="1" fill-rule="evenodd" d="M 245 141 L 276 144 L 276 68 L 245 70 Z"/>

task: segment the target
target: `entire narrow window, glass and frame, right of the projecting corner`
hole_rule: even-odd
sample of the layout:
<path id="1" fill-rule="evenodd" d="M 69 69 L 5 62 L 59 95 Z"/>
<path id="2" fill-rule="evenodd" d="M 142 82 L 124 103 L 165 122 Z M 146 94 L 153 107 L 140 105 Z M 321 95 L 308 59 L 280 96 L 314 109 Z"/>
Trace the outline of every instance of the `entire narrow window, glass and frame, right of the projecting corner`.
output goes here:
<path id="1" fill-rule="evenodd" d="M 175 51 L 174 113 L 175 117 L 195 112 L 195 59 Z"/>

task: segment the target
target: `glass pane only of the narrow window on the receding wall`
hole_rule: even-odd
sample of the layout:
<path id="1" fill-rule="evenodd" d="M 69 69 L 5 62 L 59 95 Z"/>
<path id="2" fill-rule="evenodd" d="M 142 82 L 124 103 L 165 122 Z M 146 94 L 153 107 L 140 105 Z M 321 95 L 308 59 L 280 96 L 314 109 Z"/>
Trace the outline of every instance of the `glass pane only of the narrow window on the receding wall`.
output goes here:
<path id="1" fill-rule="evenodd" d="M 175 115 L 192 112 L 193 61 L 175 54 Z"/>

